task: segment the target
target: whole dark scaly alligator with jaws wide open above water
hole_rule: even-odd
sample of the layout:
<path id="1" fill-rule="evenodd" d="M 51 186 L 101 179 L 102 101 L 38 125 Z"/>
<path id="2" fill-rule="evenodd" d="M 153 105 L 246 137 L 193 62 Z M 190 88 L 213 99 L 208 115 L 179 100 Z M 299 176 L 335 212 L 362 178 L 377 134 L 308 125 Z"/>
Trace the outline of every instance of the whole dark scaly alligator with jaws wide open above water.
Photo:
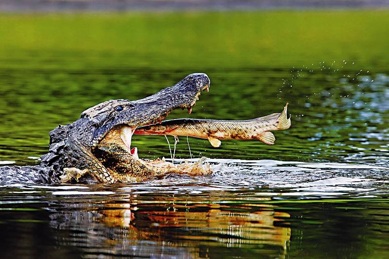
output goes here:
<path id="1" fill-rule="evenodd" d="M 204 73 L 186 76 L 174 86 L 137 101 L 109 100 L 88 108 L 80 118 L 59 125 L 50 132 L 49 153 L 37 166 L 0 167 L 0 182 L 53 184 L 59 182 L 134 182 L 166 173 L 189 173 L 201 163 L 180 167 L 162 160 L 139 159 L 131 149 L 131 137 L 138 126 L 161 122 L 172 110 L 188 109 L 201 91 L 209 90 L 210 79 Z"/>

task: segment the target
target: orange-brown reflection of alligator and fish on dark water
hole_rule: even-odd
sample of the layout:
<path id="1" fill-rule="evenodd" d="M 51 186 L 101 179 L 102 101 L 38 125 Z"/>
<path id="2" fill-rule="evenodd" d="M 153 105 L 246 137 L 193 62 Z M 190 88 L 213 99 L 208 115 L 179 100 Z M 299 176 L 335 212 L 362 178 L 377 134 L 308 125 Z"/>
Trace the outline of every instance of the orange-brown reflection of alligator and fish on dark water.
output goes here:
<path id="1" fill-rule="evenodd" d="M 286 253 L 291 230 L 282 223 L 289 214 L 275 211 L 272 205 L 224 204 L 217 195 L 209 203 L 168 199 L 141 204 L 136 197 L 61 203 L 51 215 L 51 226 L 72 230 L 72 237 L 60 242 L 76 242 L 89 255 L 207 258 L 215 252 L 212 248 L 220 246 L 262 247 L 266 254 L 279 257 Z"/>

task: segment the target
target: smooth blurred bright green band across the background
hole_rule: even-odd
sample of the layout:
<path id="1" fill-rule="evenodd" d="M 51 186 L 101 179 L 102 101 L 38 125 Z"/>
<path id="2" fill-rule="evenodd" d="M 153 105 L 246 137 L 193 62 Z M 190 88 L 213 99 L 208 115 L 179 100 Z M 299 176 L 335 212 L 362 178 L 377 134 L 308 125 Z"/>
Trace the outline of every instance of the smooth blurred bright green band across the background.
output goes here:
<path id="1" fill-rule="evenodd" d="M 389 42 L 388 14 L 387 10 L 3 14 L 1 57 L 31 55 L 28 63 L 47 63 L 52 57 L 59 63 L 50 67 L 64 69 L 289 68 L 344 59 L 387 67 L 383 49 Z M 23 63 L 28 65 L 37 64 Z"/>

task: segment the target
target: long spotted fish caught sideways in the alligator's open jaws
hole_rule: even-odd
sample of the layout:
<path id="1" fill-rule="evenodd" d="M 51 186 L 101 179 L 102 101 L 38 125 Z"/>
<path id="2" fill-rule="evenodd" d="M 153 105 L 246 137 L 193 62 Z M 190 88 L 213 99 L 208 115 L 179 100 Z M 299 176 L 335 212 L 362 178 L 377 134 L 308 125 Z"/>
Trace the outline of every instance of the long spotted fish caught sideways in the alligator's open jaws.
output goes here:
<path id="1" fill-rule="evenodd" d="M 270 131 L 288 129 L 287 105 L 281 113 L 273 113 L 247 121 L 177 119 L 162 121 L 137 128 L 137 135 L 172 135 L 208 139 L 213 147 L 220 146 L 219 139 L 259 139 L 266 144 L 274 144 L 275 137 Z"/>

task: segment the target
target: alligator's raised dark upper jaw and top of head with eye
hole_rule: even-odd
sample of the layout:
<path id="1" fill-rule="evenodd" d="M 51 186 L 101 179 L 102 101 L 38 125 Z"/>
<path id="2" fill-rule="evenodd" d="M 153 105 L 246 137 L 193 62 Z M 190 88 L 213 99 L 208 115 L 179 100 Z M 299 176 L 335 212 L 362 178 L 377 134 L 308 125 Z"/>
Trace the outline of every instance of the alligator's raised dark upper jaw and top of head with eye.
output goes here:
<path id="1" fill-rule="evenodd" d="M 155 124 L 174 109 L 187 108 L 191 113 L 201 91 L 208 91 L 210 79 L 204 73 L 186 76 L 174 86 L 137 101 L 110 100 L 84 111 L 82 118 L 95 128 L 90 145 L 96 147 L 118 125 L 138 126 Z M 120 106 L 120 109 L 117 108 Z M 130 135 L 130 134 L 126 134 Z M 129 143 L 129 137 L 124 137 Z"/>

